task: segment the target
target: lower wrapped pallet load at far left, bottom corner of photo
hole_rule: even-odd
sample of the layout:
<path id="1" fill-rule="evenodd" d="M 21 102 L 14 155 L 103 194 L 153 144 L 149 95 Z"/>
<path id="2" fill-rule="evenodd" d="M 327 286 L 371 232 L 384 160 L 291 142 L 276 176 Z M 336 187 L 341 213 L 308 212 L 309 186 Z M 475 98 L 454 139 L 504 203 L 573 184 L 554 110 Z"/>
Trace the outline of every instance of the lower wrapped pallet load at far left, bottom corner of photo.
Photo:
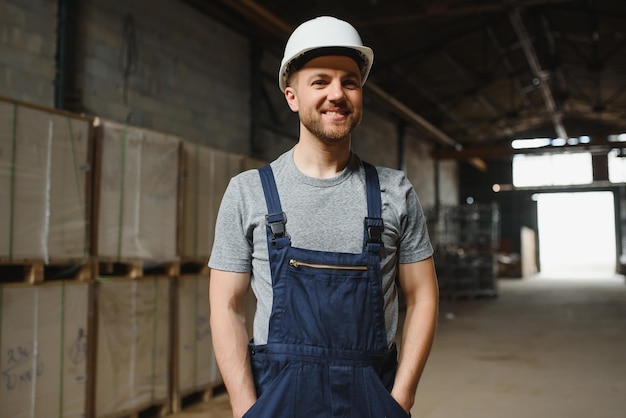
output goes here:
<path id="1" fill-rule="evenodd" d="M 3 417 L 87 415 L 89 286 L 0 287 Z"/>

